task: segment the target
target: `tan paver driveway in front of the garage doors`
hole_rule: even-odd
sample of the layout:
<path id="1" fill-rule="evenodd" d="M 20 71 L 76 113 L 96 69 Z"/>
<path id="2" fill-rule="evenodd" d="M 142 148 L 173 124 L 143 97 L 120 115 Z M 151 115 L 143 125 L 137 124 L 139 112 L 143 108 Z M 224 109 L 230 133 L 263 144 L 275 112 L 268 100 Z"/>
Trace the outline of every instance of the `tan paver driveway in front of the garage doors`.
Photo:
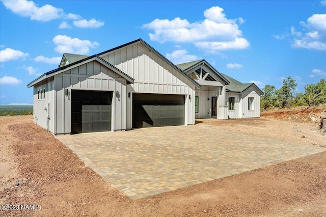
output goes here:
<path id="1" fill-rule="evenodd" d="M 132 199 L 326 150 L 204 124 L 56 138 Z"/>

